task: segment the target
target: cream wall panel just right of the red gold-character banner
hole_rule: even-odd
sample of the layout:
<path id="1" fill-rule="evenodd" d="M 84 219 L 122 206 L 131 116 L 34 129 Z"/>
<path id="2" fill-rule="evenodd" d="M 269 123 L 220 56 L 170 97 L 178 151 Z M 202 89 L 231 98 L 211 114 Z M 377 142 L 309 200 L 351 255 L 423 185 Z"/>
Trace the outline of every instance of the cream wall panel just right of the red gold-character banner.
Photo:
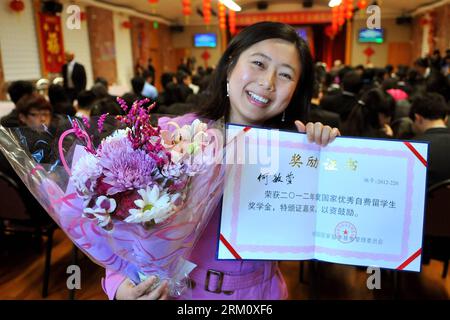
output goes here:
<path id="1" fill-rule="evenodd" d="M 92 62 L 91 62 L 91 51 L 89 45 L 89 30 L 87 21 L 81 21 L 81 29 L 71 30 L 67 28 L 67 7 L 73 3 L 64 0 L 61 2 L 64 5 L 63 12 L 61 14 L 61 24 L 63 27 L 63 38 L 64 38 L 64 50 L 71 51 L 75 54 L 75 60 L 81 63 L 86 69 L 87 76 L 87 88 L 89 89 L 93 82 L 92 73 Z M 84 5 L 78 4 L 82 12 L 86 12 Z"/>

